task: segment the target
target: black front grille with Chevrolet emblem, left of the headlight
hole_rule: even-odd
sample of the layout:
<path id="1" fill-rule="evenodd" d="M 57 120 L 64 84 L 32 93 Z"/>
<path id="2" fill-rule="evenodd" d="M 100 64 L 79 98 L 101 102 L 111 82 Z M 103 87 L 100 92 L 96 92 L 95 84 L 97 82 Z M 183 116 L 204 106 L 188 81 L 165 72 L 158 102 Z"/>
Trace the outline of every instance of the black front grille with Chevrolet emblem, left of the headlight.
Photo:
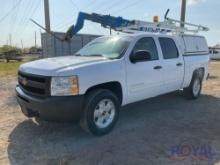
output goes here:
<path id="1" fill-rule="evenodd" d="M 50 94 L 49 77 L 19 72 L 18 83 L 27 94 L 35 96 L 48 96 Z"/>

